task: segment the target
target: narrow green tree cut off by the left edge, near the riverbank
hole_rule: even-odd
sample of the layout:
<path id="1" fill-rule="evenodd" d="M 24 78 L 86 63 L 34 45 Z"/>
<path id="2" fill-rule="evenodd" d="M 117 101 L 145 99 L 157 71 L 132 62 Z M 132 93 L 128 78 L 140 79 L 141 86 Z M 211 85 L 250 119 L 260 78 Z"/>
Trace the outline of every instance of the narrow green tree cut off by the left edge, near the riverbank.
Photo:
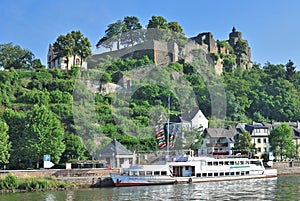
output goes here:
<path id="1" fill-rule="evenodd" d="M 11 142 L 8 135 L 7 124 L 0 119 L 0 163 L 6 165 L 9 162 Z"/>

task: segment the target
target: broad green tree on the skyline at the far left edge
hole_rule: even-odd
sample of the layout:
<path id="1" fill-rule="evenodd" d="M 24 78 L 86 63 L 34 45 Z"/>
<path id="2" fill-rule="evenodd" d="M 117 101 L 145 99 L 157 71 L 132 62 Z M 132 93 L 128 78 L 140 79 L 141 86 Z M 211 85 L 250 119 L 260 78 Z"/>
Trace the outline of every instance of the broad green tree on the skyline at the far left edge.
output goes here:
<path id="1" fill-rule="evenodd" d="M 30 69 L 34 55 L 12 43 L 0 44 L 0 67 L 5 69 Z"/>

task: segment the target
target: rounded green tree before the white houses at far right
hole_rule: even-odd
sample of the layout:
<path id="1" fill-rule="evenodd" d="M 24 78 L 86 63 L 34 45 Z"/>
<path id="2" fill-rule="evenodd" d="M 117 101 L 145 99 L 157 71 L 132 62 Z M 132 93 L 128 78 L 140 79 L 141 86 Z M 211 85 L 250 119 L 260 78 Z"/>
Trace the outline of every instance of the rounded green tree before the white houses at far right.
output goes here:
<path id="1" fill-rule="evenodd" d="M 293 131 L 287 123 L 283 123 L 271 131 L 269 142 L 274 155 L 279 156 L 281 161 L 283 158 L 294 158 L 296 148 Z"/>

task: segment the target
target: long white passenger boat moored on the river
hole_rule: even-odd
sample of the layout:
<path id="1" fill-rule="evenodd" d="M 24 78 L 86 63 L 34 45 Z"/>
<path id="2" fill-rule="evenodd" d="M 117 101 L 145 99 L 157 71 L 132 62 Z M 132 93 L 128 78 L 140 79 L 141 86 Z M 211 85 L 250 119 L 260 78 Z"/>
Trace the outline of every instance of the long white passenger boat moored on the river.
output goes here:
<path id="1" fill-rule="evenodd" d="M 111 174 L 116 187 L 271 177 L 277 177 L 277 170 L 266 169 L 262 159 L 236 156 L 182 156 L 164 165 L 131 166 L 122 174 Z"/>

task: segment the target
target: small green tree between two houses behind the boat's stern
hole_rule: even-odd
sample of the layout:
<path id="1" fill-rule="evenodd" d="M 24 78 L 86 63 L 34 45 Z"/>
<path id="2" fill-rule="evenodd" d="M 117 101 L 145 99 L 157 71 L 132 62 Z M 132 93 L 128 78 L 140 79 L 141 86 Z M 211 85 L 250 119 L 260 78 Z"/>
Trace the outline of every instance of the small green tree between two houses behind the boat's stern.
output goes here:
<path id="1" fill-rule="evenodd" d="M 253 144 L 251 142 L 251 135 L 247 131 L 243 131 L 238 135 L 237 139 L 234 141 L 234 152 L 247 154 L 250 156 L 251 149 L 253 148 Z"/>

